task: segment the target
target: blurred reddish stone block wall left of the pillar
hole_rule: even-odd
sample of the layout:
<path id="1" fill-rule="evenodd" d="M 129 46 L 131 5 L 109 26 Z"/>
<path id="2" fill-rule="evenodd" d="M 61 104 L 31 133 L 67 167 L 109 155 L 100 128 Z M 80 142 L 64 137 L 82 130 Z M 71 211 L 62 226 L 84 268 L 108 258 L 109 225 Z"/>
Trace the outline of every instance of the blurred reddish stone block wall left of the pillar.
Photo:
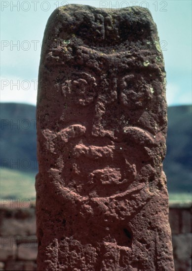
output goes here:
<path id="1" fill-rule="evenodd" d="M 0 270 L 34 271 L 38 251 L 35 208 L 14 206 L 0 208 Z"/>

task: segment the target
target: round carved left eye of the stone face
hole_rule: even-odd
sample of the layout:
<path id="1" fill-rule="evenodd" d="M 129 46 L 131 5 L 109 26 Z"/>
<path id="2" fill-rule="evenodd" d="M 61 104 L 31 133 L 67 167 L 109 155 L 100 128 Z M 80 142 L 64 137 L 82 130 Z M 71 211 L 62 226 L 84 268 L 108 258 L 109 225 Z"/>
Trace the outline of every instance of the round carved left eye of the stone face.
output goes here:
<path id="1" fill-rule="evenodd" d="M 73 74 L 72 78 L 74 79 L 66 80 L 62 86 L 64 96 L 80 105 L 93 102 L 97 86 L 95 78 L 85 72 Z"/>

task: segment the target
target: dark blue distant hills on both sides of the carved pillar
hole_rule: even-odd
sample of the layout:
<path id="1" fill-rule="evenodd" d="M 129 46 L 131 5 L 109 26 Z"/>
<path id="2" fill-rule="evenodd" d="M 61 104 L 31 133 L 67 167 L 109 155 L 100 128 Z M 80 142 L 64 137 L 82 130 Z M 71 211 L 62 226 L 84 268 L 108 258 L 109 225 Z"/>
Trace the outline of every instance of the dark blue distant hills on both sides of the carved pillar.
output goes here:
<path id="1" fill-rule="evenodd" d="M 18 103 L 1 103 L 0 107 L 1 169 L 37 172 L 36 107 Z M 167 155 L 164 170 L 169 192 L 191 193 L 191 165 L 192 106 L 168 107 Z"/>

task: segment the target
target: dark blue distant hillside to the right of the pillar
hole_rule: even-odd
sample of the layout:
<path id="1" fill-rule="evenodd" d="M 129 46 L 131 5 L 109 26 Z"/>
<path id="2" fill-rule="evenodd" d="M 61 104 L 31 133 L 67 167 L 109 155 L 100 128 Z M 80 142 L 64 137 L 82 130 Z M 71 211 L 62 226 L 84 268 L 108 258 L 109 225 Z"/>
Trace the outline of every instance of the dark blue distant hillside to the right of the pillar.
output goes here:
<path id="1" fill-rule="evenodd" d="M 168 107 L 164 171 L 168 190 L 192 192 L 192 105 Z"/>

